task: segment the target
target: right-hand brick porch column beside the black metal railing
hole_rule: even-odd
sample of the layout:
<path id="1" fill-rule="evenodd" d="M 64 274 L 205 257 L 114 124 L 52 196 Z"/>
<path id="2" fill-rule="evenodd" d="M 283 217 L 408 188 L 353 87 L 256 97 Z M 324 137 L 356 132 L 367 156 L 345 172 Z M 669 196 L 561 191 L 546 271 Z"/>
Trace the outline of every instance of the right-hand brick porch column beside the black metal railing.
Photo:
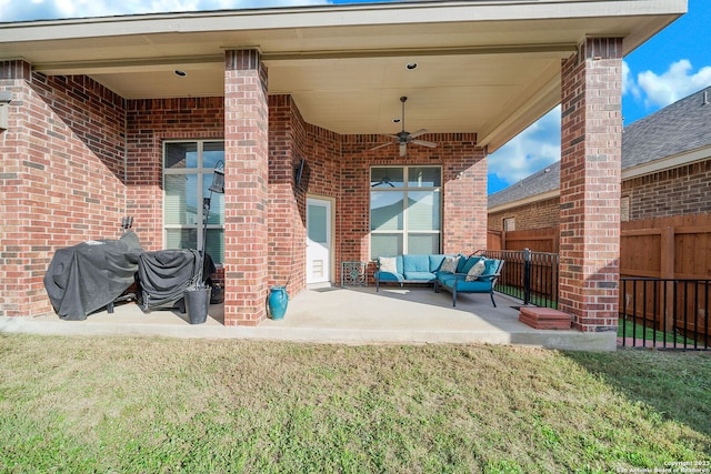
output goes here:
<path id="1" fill-rule="evenodd" d="M 588 39 L 562 63 L 560 310 L 584 332 L 617 331 L 622 39 Z"/>

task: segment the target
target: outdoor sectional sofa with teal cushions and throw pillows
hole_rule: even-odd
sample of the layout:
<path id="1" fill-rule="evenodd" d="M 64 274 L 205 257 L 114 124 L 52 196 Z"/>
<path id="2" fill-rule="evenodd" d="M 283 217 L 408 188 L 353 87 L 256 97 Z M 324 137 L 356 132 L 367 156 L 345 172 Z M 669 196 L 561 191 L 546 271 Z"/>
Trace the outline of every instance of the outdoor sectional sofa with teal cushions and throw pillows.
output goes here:
<path id="1" fill-rule="evenodd" d="M 375 291 L 381 282 L 432 283 L 434 292 L 445 289 L 452 293 L 452 305 L 457 306 L 458 293 L 489 293 L 493 306 L 493 288 L 501 274 L 503 260 L 482 255 L 404 254 L 380 256 L 375 260 Z"/>

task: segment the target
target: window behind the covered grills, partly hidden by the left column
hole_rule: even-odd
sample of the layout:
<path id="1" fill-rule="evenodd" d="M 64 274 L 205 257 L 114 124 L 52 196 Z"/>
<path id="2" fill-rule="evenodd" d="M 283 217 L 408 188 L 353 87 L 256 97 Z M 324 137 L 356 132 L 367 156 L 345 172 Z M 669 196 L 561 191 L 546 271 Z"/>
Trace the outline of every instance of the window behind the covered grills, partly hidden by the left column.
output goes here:
<path id="1" fill-rule="evenodd" d="M 167 249 L 202 246 L 202 200 L 218 161 L 222 141 L 166 142 L 163 147 L 163 223 Z M 214 263 L 224 260 L 224 195 L 212 193 L 206 250 Z M 198 244 L 199 242 L 199 244 Z"/>

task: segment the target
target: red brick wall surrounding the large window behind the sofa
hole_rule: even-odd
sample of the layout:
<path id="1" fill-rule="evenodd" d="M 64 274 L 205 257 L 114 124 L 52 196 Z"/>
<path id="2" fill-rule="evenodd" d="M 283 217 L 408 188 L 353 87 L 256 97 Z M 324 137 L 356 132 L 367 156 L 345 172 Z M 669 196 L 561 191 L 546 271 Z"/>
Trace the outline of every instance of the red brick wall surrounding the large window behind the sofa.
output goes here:
<path id="1" fill-rule="evenodd" d="M 370 167 L 442 167 L 443 252 L 471 253 L 487 244 L 487 160 L 477 147 L 473 133 L 438 133 L 423 140 L 438 143 L 434 149 L 408 147 L 400 158 L 398 147 L 371 150 L 383 142 L 379 135 L 343 137 L 341 160 L 341 202 L 339 210 L 340 261 L 370 259 Z"/>

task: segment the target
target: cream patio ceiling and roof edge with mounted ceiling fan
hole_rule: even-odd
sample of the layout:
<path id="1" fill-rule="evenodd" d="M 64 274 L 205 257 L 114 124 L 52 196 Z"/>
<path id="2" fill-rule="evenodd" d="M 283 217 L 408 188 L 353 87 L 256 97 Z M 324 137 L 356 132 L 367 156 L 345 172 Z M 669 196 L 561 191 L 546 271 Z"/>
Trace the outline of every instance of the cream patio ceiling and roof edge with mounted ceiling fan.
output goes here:
<path id="1" fill-rule="evenodd" d="M 259 48 L 269 93 L 338 133 L 475 132 L 493 151 L 560 102 L 587 37 L 624 53 L 687 0 L 417 1 L 0 23 L 0 60 L 87 74 L 127 99 L 223 94 L 226 49 Z M 408 69 L 417 63 L 415 69 Z M 173 73 L 181 70 L 186 77 Z"/>

